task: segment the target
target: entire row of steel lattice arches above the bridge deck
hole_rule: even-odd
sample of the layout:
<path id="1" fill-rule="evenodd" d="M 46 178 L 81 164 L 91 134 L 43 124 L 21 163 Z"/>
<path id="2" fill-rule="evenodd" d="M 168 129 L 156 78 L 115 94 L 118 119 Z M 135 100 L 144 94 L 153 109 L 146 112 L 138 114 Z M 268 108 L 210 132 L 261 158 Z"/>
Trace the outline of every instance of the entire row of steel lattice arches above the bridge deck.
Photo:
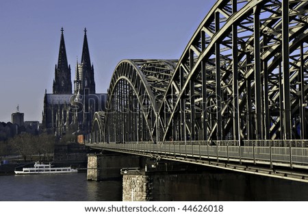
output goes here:
<path id="1" fill-rule="evenodd" d="M 307 139 L 307 39 L 307 1 L 219 0 L 179 60 L 119 62 L 92 132 L 97 142 Z"/>

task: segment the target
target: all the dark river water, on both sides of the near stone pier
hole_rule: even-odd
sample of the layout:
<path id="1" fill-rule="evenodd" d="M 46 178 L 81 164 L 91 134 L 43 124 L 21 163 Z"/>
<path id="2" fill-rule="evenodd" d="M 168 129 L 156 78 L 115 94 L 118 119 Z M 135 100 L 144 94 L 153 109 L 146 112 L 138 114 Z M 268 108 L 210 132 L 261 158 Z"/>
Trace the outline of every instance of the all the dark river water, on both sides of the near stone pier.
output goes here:
<path id="1" fill-rule="evenodd" d="M 122 201 L 122 179 L 1 175 L 0 201 Z M 308 183 L 224 171 L 154 175 L 153 201 L 308 201 Z"/>

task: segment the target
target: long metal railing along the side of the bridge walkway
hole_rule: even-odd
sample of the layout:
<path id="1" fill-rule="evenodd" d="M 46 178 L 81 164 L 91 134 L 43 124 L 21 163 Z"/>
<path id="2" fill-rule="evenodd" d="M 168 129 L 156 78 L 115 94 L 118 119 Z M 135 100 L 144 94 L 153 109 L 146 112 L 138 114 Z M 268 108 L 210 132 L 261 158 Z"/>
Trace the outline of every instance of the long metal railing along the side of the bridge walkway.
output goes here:
<path id="1" fill-rule="evenodd" d="M 199 157 L 208 160 L 227 160 L 233 162 L 248 162 L 253 164 L 273 164 L 276 166 L 296 166 L 308 169 L 308 147 L 247 147 L 220 146 L 205 144 L 205 142 L 164 142 L 153 144 L 138 143 L 101 143 L 104 149 L 130 151 L 131 153 L 159 154 L 172 157 Z"/>

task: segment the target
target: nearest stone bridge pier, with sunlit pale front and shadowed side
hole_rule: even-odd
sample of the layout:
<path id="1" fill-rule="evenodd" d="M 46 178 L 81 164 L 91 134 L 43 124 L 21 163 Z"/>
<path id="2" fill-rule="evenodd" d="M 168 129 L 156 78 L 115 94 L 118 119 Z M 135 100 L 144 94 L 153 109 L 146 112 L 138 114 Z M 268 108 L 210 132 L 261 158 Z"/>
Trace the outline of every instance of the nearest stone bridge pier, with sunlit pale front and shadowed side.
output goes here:
<path id="1" fill-rule="evenodd" d="M 194 184 L 201 179 L 201 166 L 148 159 L 143 167 L 121 170 L 123 201 L 172 201 L 199 191 Z"/>

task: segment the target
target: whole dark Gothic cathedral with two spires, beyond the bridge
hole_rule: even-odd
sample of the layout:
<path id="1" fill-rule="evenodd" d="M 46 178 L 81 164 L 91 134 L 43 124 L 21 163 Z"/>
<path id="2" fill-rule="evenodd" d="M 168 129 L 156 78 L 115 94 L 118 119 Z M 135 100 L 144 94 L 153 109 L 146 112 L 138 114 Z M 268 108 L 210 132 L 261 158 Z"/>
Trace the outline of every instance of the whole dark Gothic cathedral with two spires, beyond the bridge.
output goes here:
<path id="1" fill-rule="evenodd" d="M 79 63 L 77 60 L 75 79 L 72 85 L 63 27 L 61 31 L 60 50 L 53 80 L 53 93 L 47 93 L 47 90 L 45 90 L 42 126 L 47 131 L 52 131 L 59 136 L 77 130 L 79 133 L 89 134 L 94 112 L 105 109 L 107 94 L 96 93 L 95 91 L 94 67 L 90 61 L 86 28 L 84 29 L 81 62 Z M 72 86 L 74 86 L 73 91 Z"/>

